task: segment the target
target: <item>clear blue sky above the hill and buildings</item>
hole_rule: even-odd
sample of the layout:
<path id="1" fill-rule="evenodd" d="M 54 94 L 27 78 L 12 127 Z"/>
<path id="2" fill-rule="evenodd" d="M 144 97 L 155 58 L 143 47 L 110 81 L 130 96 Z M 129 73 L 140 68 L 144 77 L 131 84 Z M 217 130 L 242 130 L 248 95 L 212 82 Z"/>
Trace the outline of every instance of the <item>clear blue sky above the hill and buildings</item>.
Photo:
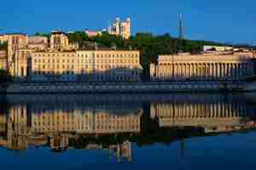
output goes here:
<path id="1" fill-rule="evenodd" d="M 131 33 L 177 37 L 183 14 L 184 37 L 256 45 L 255 0 L 2 0 L 0 33 L 101 29 L 117 15 L 131 15 Z"/>

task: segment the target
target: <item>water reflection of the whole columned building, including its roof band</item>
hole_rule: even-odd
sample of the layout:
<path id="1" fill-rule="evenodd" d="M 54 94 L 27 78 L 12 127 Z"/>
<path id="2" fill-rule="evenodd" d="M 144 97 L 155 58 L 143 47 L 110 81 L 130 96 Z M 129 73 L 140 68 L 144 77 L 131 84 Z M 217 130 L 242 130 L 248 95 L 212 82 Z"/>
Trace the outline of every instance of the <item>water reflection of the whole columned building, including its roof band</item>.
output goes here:
<path id="1" fill-rule="evenodd" d="M 235 127 L 246 123 L 246 105 L 236 102 L 156 102 L 150 116 L 160 127 Z"/>

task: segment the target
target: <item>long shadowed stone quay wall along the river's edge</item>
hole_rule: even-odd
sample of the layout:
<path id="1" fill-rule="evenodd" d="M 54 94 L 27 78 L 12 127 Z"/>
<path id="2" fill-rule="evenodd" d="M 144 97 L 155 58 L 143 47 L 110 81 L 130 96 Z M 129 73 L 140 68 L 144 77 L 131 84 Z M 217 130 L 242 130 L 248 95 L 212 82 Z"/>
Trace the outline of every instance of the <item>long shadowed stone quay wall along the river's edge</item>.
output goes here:
<path id="1" fill-rule="evenodd" d="M 244 82 L 55 82 L 13 83 L 6 94 L 172 93 L 242 91 Z"/>

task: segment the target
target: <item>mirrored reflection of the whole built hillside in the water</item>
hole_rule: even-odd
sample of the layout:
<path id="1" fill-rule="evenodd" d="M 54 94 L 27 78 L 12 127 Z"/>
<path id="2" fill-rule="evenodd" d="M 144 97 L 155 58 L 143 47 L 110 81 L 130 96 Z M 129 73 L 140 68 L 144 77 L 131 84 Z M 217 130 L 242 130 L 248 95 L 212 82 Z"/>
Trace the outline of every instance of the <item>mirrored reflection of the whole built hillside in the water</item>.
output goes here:
<path id="1" fill-rule="evenodd" d="M 55 152 L 109 150 L 111 159 L 114 156 L 117 161 L 131 161 L 131 142 L 138 144 L 148 139 L 151 144 L 166 143 L 164 140 L 173 139 L 174 135 L 182 141 L 182 149 L 188 136 L 183 134 L 187 131 L 189 136 L 202 136 L 255 127 L 255 108 L 241 96 L 226 99 L 222 95 L 217 98 L 128 95 L 127 101 L 124 97 L 119 101 L 110 96 L 100 102 L 66 98 L 49 102 L 49 96 L 45 98 L 31 101 L 30 97 L 19 96 L 2 101 L 7 105 L 0 114 L 3 147 L 27 150 L 30 145 L 46 145 Z"/>

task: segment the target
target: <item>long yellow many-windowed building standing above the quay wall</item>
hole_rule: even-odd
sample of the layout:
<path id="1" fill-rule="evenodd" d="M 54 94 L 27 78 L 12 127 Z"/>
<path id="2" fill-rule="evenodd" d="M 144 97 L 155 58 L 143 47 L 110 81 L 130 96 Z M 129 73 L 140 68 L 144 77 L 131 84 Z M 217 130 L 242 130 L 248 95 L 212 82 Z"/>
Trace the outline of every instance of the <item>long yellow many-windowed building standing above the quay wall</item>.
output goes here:
<path id="1" fill-rule="evenodd" d="M 32 52 L 32 81 L 138 82 L 139 51 Z"/>

